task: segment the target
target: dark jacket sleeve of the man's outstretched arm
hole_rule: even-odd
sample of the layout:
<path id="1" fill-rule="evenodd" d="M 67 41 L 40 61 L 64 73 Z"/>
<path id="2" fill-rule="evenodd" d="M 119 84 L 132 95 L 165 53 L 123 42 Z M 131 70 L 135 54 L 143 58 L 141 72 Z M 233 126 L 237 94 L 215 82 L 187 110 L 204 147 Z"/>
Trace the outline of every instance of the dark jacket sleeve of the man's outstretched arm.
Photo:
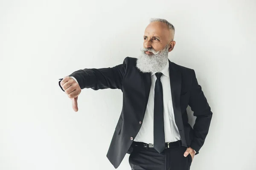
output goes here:
<path id="1" fill-rule="evenodd" d="M 122 90 L 122 80 L 128 69 L 129 57 L 122 64 L 109 68 L 84 68 L 69 75 L 75 77 L 81 89 L 92 88 L 93 90 L 111 88 Z M 59 79 L 59 86 L 61 88 Z M 64 91 L 61 88 L 62 91 Z"/>

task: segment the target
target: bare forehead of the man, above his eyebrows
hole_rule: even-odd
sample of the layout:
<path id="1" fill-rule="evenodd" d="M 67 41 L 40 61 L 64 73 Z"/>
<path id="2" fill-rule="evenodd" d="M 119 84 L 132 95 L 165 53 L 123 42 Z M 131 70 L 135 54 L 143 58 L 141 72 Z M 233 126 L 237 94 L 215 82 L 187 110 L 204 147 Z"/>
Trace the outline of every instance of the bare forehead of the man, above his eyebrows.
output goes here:
<path id="1" fill-rule="evenodd" d="M 169 29 L 165 23 L 152 22 L 145 28 L 145 36 L 169 37 Z"/>

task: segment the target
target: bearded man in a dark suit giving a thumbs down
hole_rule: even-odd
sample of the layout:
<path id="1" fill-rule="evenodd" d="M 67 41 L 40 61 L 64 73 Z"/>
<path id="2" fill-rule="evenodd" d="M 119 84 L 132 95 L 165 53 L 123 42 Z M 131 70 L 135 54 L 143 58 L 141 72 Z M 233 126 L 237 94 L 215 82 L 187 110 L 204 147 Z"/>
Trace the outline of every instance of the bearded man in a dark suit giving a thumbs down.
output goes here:
<path id="1" fill-rule="evenodd" d="M 171 62 L 175 28 L 167 20 L 151 19 L 145 28 L 141 56 L 126 57 L 112 68 L 78 70 L 59 85 L 72 99 L 83 88 L 123 92 L 123 106 L 107 157 L 115 168 L 126 153 L 132 170 L 189 170 L 204 144 L 212 111 L 195 71 Z M 190 105 L 195 125 L 188 123 Z"/>

